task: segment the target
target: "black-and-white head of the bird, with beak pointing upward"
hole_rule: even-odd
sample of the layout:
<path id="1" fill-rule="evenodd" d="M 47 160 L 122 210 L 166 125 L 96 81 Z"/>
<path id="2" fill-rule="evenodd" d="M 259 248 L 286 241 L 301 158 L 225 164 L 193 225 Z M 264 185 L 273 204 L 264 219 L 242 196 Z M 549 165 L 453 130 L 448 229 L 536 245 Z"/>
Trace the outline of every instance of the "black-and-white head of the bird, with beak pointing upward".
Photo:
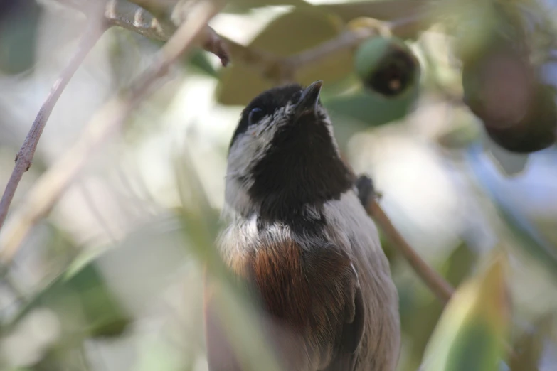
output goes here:
<path id="1" fill-rule="evenodd" d="M 274 87 L 245 107 L 228 152 L 226 201 L 235 211 L 289 217 L 351 187 L 321 88 L 320 80 Z"/>

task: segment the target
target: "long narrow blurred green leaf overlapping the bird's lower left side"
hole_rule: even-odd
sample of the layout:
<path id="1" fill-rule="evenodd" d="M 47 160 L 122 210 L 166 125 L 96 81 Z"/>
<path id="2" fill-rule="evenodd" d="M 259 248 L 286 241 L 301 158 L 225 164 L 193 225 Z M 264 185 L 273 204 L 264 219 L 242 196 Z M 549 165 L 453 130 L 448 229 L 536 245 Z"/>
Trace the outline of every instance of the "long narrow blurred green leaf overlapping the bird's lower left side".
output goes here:
<path id="1" fill-rule="evenodd" d="M 187 147 L 187 146 L 186 146 Z M 250 300 L 245 286 L 223 264 L 214 244 L 218 232 L 218 213 L 211 208 L 201 179 L 186 148 L 175 161 L 176 183 L 183 210 L 184 235 L 189 251 L 206 267 L 206 287 L 211 292 L 219 321 L 226 323 L 226 335 L 233 340 L 233 351 L 245 370 L 278 371 L 278 362 L 267 339 L 254 321 L 258 307 Z"/>

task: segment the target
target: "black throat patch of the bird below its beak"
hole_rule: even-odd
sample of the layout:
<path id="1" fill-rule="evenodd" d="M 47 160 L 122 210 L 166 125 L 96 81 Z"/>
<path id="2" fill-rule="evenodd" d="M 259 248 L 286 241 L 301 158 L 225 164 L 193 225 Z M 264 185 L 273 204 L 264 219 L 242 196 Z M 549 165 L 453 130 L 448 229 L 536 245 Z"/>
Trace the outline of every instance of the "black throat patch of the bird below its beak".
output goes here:
<path id="1" fill-rule="evenodd" d="M 321 213 L 324 203 L 338 200 L 354 184 L 323 119 L 310 113 L 280 129 L 254 166 L 248 192 L 260 205 L 262 220 L 305 224 L 312 219 L 308 206 Z"/>

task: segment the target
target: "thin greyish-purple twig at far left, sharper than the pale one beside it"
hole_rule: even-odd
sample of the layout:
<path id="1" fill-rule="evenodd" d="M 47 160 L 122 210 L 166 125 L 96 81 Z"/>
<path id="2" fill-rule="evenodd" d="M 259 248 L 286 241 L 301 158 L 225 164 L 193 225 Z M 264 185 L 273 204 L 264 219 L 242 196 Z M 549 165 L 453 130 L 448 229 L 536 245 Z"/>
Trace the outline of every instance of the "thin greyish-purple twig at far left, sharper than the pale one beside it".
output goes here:
<path id="1" fill-rule="evenodd" d="M 38 111 L 35 121 L 33 122 L 33 125 L 31 125 L 31 129 L 29 130 L 25 141 L 23 141 L 21 149 L 18 151 L 16 156 L 16 165 L 14 166 L 14 170 L 11 173 L 8 184 L 6 185 L 6 190 L 4 190 L 4 194 L 0 200 L 0 230 L 2 225 L 4 225 L 4 220 L 6 220 L 6 215 L 8 214 L 11 200 L 14 199 L 14 194 L 16 193 L 18 184 L 21 181 L 21 178 L 23 178 L 23 173 L 28 171 L 31 163 L 33 162 L 33 156 L 35 155 L 38 141 L 41 139 L 43 129 L 48 121 L 48 117 L 51 116 L 56 102 L 58 102 L 58 98 L 62 94 L 66 85 L 68 85 L 68 82 L 70 82 L 70 79 L 73 77 L 75 71 L 78 70 L 81 63 L 83 63 L 85 56 L 87 56 L 89 51 L 95 43 L 97 43 L 100 36 L 102 36 L 102 33 L 105 31 L 106 26 L 94 15 L 90 16 L 89 24 L 87 28 L 85 28 L 85 33 L 79 43 L 77 52 L 75 52 L 75 55 L 73 55 L 70 63 L 68 63 L 68 65 L 64 68 L 60 77 L 58 77 L 58 79 L 54 82 L 51 92 L 48 94 L 46 101 Z"/>

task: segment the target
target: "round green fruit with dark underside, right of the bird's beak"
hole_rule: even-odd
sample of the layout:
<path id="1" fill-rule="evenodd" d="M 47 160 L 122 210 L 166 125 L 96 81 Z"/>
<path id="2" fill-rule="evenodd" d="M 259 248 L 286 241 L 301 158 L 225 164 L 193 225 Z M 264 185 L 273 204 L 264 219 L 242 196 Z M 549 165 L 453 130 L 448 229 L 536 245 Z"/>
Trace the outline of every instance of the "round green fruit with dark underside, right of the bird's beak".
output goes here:
<path id="1" fill-rule="evenodd" d="M 354 57 L 356 73 L 367 90 L 399 97 L 417 87 L 420 63 L 398 38 L 376 36 L 361 43 Z"/>

